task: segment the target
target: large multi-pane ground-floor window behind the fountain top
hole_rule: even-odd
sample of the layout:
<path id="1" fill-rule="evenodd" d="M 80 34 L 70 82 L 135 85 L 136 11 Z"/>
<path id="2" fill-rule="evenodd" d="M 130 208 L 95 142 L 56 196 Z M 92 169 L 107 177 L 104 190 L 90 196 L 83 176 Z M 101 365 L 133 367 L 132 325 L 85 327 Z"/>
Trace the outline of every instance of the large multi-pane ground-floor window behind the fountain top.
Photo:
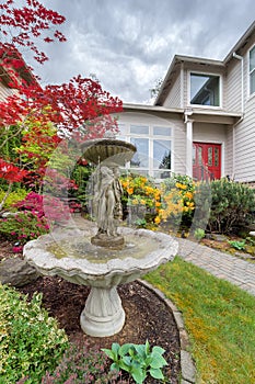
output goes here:
<path id="1" fill-rule="evenodd" d="M 167 126 L 119 124 L 117 138 L 134 144 L 137 153 L 127 165 L 131 171 L 165 179 L 172 169 L 172 128 Z"/>

